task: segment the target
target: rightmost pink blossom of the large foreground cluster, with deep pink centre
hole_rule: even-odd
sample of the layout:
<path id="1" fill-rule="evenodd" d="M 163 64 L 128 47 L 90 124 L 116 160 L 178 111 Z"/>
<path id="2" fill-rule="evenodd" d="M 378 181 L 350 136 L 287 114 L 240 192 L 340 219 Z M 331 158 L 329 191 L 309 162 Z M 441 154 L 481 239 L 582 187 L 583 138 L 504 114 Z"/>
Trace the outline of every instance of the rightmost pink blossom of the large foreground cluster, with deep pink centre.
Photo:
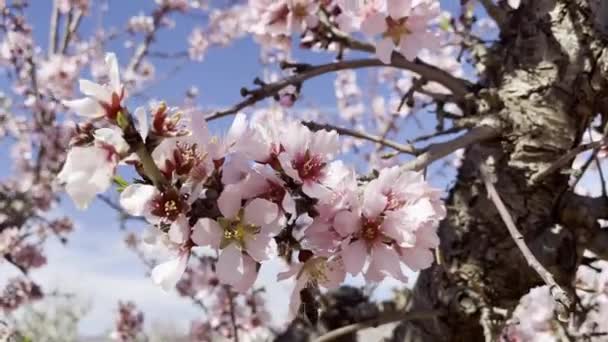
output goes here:
<path id="1" fill-rule="evenodd" d="M 430 249 L 439 244 L 436 226 L 444 216 L 438 192 L 422 175 L 398 167 L 382 170 L 365 187 L 360 213 L 342 211 L 334 218 L 337 233 L 346 238 L 341 246 L 346 271 L 357 274 L 369 262 L 366 279 L 406 281 L 401 262 L 414 270 L 431 265 Z"/>

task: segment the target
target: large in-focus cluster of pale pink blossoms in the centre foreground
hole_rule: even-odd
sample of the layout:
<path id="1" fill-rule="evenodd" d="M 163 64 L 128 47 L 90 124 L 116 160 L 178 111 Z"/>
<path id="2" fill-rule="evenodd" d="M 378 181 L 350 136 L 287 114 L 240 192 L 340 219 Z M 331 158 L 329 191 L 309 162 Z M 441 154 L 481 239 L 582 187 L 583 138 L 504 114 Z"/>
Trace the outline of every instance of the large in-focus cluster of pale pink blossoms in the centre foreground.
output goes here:
<path id="1" fill-rule="evenodd" d="M 105 127 L 86 124 L 59 178 L 85 208 L 110 187 L 121 162 L 135 165 L 141 179 L 120 182 L 120 204 L 153 226 L 145 242 L 172 256 L 152 270 L 155 283 L 173 288 L 192 249 L 205 246 L 217 255 L 219 283 L 244 293 L 260 265 L 281 256 L 291 266 L 280 278 L 297 280 L 295 311 L 299 291 L 311 284 L 335 287 L 346 273 L 405 281 L 403 265 L 431 265 L 445 210 L 422 175 L 394 167 L 359 185 L 354 170 L 335 160 L 338 134 L 296 121 L 238 114 L 217 137 L 204 120 L 164 104 L 151 120 L 144 108 L 131 115 L 116 58 L 106 61 L 108 84 L 82 80 L 87 97 L 64 101 Z"/>

